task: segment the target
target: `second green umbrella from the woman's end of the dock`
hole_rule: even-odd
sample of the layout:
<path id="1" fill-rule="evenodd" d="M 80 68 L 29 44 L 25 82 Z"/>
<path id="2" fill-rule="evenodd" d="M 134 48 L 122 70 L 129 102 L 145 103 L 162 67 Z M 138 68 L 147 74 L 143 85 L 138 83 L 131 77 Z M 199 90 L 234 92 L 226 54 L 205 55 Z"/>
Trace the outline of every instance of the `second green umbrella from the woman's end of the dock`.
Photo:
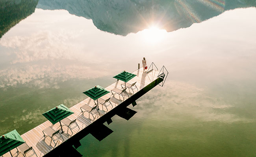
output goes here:
<path id="1" fill-rule="evenodd" d="M 98 106 L 98 98 L 100 98 L 103 95 L 106 95 L 108 93 L 110 93 L 110 92 L 100 86 L 95 86 L 95 87 L 83 92 L 83 94 L 87 95 L 91 99 L 97 100 L 97 106 Z M 98 106 L 98 110 L 99 110 L 99 106 Z"/>

